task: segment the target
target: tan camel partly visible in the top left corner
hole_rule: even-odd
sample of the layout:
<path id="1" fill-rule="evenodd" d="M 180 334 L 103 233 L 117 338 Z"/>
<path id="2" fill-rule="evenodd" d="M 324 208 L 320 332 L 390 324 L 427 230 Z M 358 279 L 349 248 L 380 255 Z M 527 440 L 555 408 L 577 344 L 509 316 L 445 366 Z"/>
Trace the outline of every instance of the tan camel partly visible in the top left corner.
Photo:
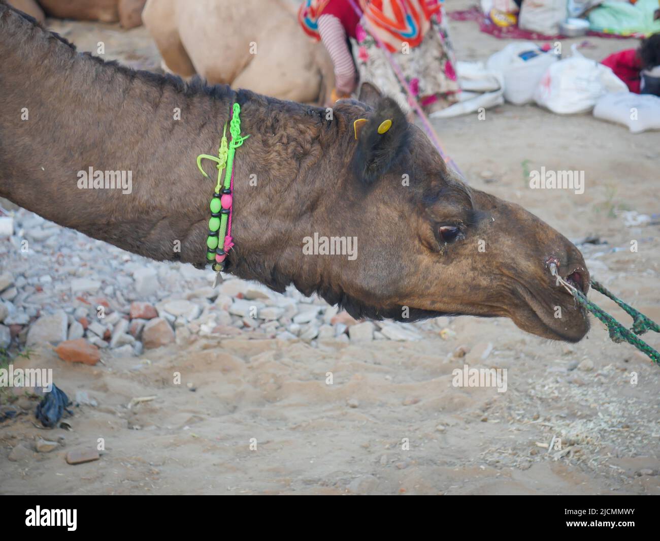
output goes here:
<path id="1" fill-rule="evenodd" d="M 123 28 L 142 24 L 141 13 L 146 0 L 11 0 L 9 4 L 44 21 L 49 17 L 77 20 L 100 20 L 121 23 Z"/>

